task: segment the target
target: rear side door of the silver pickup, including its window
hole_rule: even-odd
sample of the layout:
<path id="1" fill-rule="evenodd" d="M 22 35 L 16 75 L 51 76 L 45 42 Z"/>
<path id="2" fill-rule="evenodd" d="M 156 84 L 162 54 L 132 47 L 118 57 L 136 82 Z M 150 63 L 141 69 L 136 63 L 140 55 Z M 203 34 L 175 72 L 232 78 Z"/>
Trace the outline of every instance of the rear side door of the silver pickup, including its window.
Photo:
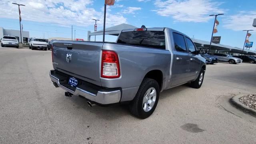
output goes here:
<path id="1" fill-rule="evenodd" d="M 174 39 L 174 66 L 172 67 L 172 86 L 189 81 L 190 55 L 186 48 L 185 38 L 182 34 L 173 32 Z"/>

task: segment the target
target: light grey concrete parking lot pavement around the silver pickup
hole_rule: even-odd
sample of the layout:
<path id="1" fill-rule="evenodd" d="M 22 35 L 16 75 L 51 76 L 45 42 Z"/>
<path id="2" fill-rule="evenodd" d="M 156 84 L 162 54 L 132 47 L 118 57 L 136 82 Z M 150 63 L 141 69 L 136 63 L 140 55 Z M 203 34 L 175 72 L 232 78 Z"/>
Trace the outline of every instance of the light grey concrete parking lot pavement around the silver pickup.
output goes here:
<path id="1" fill-rule="evenodd" d="M 256 64 L 207 65 L 202 88 L 160 93 L 145 120 L 120 105 L 88 107 L 49 78 L 51 51 L 0 47 L 0 143 L 256 143 L 256 119 L 228 103 L 256 93 Z"/>

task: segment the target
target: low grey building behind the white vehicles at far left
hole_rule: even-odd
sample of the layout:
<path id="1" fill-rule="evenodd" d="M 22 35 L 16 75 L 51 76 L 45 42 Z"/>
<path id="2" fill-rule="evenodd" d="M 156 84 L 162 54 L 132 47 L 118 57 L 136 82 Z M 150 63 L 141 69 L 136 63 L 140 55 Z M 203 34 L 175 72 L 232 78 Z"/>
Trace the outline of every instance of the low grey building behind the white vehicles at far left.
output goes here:
<path id="1" fill-rule="evenodd" d="M 28 31 L 22 31 L 23 33 L 23 42 L 28 42 L 28 38 L 29 38 L 29 32 Z M 3 36 L 15 36 L 19 42 L 21 42 L 21 38 L 20 38 L 20 30 L 7 30 L 4 28 L 0 27 L 0 39 Z"/>

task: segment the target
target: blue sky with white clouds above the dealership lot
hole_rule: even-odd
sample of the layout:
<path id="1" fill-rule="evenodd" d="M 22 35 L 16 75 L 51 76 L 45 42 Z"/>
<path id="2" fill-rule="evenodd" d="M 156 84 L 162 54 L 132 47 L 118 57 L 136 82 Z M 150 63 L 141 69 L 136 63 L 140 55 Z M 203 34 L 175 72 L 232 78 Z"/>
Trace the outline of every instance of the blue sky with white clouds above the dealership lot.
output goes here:
<path id="1" fill-rule="evenodd" d="M 30 37 L 71 38 L 71 26 L 76 38 L 87 39 L 87 31 L 94 30 L 94 19 L 98 30 L 103 28 L 104 0 L 0 0 L 0 27 L 19 30 L 18 6 L 24 31 Z M 116 0 L 114 6 L 107 6 L 106 28 L 126 23 L 141 27 L 169 27 L 191 38 L 210 41 L 214 16 L 218 16 L 220 44 L 242 48 L 246 32 L 251 32 L 250 42 L 256 42 L 256 0 Z M 97 36 L 97 40 L 102 37 Z M 107 37 L 115 40 L 115 37 Z M 256 50 L 256 46 L 251 48 Z"/>

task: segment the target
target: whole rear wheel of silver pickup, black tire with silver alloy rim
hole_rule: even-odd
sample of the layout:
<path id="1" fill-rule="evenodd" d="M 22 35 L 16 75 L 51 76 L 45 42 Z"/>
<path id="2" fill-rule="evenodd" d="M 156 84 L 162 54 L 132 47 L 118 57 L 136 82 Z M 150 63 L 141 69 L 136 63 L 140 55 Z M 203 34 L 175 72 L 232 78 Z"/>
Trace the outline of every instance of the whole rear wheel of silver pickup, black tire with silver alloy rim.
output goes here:
<path id="1" fill-rule="evenodd" d="M 148 118 L 156 109 L 159 93 L 160 88 L 156 80 L 145 78 L 140 84 L 140 88 L 134 100 L 132 100 L 129 105 L 130 112 L 138 118 Z M 152 104 L 152 102 L 154 103 Z"/>

